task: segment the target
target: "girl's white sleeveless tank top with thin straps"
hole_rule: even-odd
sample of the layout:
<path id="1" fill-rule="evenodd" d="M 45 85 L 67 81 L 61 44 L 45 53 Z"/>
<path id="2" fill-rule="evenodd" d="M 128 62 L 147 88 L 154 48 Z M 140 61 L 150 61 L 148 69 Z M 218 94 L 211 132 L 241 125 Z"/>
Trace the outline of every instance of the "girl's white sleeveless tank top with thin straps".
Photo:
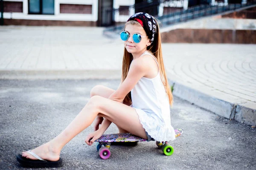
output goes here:
<path id="1" fill-rule="evenodd" d="M 157 62 L 157 59 L 148 51 L 143 55 L 150 55 Z M 140 56 L 140 57 L 141 57 Z M 171 127 L 169 98 L 160 78 L 160 70 L 152 79 L 142 77 L 131 90 L 132 107 L 139 108 L 152 116 L 157 116 L 164 123 L 165 127 Z"/>

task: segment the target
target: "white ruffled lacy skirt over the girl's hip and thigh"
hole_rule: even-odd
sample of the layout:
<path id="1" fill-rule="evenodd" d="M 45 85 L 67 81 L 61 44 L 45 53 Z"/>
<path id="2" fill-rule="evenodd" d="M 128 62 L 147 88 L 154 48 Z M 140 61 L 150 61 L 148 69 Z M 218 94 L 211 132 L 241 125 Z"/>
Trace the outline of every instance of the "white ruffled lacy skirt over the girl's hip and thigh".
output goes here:
<path id="1" fill-rule="evenodd" d="M 160 142 L 175 140 L 175 131 L 171 122 L 169 125 L 166 125 L 155 113 L 147 113 L 138 108 L 134 109 L 139 115 L 140 123 L 151 138 Z"/>

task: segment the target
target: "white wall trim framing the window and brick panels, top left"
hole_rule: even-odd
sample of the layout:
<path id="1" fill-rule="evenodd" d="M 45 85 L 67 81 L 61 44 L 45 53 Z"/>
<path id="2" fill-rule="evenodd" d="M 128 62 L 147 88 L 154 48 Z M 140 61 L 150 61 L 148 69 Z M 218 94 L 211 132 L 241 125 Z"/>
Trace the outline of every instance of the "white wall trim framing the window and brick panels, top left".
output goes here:
<path id="1" fill-rule="evenodd" d="M 65 20 L 65 21 L 97 21 L 98 20 L 98 0 L 55 0 L 54 15 L 28 14 L 28 0 L 4 0 L 23 2 L 23 13 L 4 12 L 5 19 L 20 20 Z M 92 5 L 92 14 L 60 14 L 60 3 Z"/>

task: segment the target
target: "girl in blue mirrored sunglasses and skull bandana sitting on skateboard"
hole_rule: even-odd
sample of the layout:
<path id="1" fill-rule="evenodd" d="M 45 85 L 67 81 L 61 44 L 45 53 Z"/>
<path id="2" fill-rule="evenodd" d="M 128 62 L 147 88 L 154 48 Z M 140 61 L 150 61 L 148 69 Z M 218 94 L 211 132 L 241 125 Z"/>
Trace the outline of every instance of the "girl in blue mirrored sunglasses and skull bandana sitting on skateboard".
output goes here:
<path id="1" fill-rule="evenodd" d="M 143 12 L 134 14 L 128 19 L 120 37 L 125 49 L 119 88 L 114 91 L 95 86 L 89 102 L 64 131 L 51 141 L 17 155 L 17 161 L 22 165 L 61 166 L 62 147 L 90 126 L 94 119 L 95 131 L 85 139 L 88 145 L 99 139 L 111 122 L 117 125 L 120 133 L 129 132 L 148 141 L 175 139 L 169 109 L 172 93 L 163 65 L 156 20 Z"/>

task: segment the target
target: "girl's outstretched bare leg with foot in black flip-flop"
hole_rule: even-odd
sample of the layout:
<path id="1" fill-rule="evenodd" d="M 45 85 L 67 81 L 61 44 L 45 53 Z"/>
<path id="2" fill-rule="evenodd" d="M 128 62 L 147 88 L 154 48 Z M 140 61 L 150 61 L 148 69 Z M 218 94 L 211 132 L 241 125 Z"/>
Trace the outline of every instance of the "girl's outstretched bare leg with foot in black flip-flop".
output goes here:
<path id="1" fill-rule="evenodd" d="M 63 132 L 50 142 L 35 148 L 32 152 L 42 159 L 57 161 L 62 147 L 82 130 L 86 129 L 98 114 L 115 123 L 118 127 L 147 139 L 145 129 L 141 125 L 139 116 L 134 108 L 101 96 L 93 96 Z M 28 159 L 36 159 L 26 152 L 23 153 L 23 156 Z"/>

